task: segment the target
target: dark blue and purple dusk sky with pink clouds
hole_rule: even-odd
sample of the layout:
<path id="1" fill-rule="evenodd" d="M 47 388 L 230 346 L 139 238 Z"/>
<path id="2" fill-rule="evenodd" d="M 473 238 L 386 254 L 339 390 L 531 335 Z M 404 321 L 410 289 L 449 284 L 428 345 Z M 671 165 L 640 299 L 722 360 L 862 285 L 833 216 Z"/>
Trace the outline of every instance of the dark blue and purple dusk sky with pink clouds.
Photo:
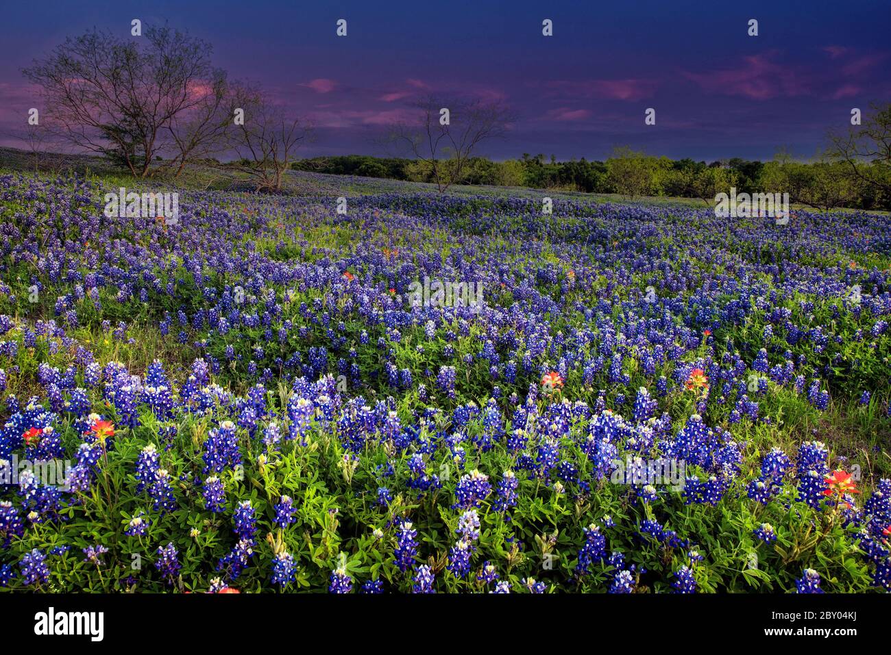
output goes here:
<path id="1" fill-rule="evenodd" d="M 375 145 L 424 93 L 502 100 L 519 115 L 495 158 L 603 158 L 629 144 L 673 158 L 813 156 L 852 107 L 891 100 L 891 3 L 42 2 L 7 3 L 0 130 L 23 124 L 32 59 L 87 28 L 168 23 L 214 45 L 236 78 L 316 125 L 305 155 Z M 348 35 L 335 35 L 338 19 Z M 554 36 L 542 36 L 542 20 Z M 759 36 L 748 36 L 748 20 Z M 656 109 L 656 125 L 644 111 Z"/>

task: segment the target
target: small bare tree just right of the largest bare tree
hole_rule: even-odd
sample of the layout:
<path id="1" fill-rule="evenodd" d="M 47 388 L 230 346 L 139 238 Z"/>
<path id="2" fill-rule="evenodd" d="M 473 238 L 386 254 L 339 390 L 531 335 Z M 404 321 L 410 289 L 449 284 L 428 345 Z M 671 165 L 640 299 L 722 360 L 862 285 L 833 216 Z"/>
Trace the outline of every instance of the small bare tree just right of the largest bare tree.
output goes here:
<path id="1" fill-rule="evenodd" d="M 244 110 L 244 120 L 234 126 L 229 141 L 238 159 L 226 167 L 247 174 L 257 190 L 281 190 L 284 172 L 308 140 L 310 127 L 249 86 L 241 86 L 233 101 Z"/>

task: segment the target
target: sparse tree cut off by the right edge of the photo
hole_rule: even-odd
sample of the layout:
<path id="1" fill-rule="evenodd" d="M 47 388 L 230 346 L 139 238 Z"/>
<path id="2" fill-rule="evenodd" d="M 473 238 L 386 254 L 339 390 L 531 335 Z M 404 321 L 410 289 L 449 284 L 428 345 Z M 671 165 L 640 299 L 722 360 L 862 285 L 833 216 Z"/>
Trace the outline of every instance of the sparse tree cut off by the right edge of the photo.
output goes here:
<path id="1" fill-rule="evenodd" d="M 843 161 L 860 182 L 891 191 L 891 104 L 871 104 L 862 125 L 846 133 L 830 132 L 827 156 Z"/>

